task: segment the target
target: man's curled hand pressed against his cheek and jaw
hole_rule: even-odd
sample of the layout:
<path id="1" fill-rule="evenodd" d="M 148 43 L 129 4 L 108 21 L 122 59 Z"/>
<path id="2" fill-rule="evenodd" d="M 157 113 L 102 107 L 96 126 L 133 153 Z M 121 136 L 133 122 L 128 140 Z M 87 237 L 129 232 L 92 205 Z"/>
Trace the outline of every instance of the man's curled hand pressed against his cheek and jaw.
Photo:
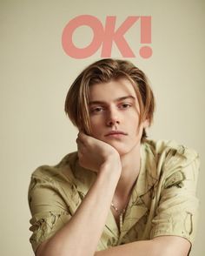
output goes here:
<path id="1" fill-rule="evenodd" d="M 108 143 L 85 135 L 83 132 L 78 133 L 76 143 L 79 163 L 84 168 L 100 172 L 103 167 L 110 167 L 113 171 L 121 172 L 119 153 Z"/>

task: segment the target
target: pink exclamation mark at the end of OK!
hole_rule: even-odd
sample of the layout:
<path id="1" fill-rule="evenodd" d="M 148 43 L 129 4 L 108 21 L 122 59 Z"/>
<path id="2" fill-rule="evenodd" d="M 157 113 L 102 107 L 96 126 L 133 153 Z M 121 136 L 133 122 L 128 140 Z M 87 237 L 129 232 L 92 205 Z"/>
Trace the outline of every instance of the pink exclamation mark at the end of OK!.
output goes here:
<path id="1" fill-rule="evenodd" d="M 141 17 L 141 44 L 151 44 L 151 17 Z M 152 49 L 150 46 L 142 46 L 140 49 L 140 56 L 149 58 L 152 56 Z"/>

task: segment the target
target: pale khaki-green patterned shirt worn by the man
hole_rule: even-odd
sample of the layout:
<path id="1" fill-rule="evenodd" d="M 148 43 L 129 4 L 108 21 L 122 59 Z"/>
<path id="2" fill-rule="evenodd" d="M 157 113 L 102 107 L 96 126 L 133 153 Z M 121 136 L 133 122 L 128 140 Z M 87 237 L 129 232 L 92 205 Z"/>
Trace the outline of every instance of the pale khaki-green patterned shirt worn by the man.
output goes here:
<path id="1" fill-rule="evenodd" d="M 174 141 L 144 142 L 140 173 L 122 228 L 118 229 L 110 210 L 97 250 L 162 235 L 180 236 L 192 243 L 198 212 L 198 170 L 195 151 Z M 72 218 L 95 179 L 95 172 L 78 164 L 76 152 L 56 166 L 43 165 L 33 172 L 29 204 L 34 251 Z"/>

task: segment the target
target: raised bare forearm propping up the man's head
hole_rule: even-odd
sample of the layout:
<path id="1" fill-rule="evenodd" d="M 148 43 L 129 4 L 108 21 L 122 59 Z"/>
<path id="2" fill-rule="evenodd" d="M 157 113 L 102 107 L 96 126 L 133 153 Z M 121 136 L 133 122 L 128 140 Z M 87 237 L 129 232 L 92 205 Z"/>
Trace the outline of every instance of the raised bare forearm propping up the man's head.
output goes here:
<path id="1" fill-rule="evenodd" d="M 45 244 L 38 256 L 94 255 L 120 176 L 114 174 L 108 170 L 98 174 L 74 216 Z"/>

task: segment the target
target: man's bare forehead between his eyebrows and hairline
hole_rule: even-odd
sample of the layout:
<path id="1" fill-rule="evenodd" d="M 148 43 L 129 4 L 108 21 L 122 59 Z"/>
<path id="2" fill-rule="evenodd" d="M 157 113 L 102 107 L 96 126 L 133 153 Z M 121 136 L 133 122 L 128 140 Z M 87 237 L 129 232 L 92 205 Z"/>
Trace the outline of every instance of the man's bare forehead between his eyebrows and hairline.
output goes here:
<path id="1" fill-rule="evenodd" d="M 134 85 L 126 78 L 89 86 L 89 101 L 109 102 L 128 96 L 136 98 L 136 91 Z"/>

